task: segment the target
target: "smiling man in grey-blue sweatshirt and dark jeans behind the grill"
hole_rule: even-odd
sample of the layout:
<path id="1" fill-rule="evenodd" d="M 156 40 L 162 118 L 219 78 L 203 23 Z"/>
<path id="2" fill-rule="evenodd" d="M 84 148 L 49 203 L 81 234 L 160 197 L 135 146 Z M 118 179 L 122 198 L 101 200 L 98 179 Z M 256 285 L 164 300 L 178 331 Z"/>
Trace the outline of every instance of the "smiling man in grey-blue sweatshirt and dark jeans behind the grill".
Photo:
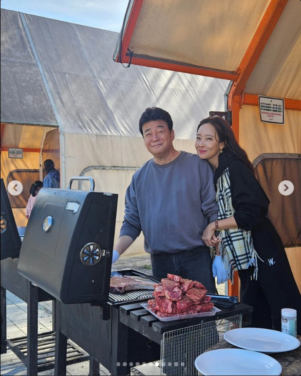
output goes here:
<path id="1" fill-rule="evenodd" d="M 128 186 L 112 262 L 142 231 L 155 277 L 180 275 L 215 293 L 210 251 L 201 239 L 206 225 L 217 219 L 212 169 L 197 155 L 174 148 L 173 121 L 165 110 L 147 108 L 139 129 L 154 158 L 135 172 Z"/>

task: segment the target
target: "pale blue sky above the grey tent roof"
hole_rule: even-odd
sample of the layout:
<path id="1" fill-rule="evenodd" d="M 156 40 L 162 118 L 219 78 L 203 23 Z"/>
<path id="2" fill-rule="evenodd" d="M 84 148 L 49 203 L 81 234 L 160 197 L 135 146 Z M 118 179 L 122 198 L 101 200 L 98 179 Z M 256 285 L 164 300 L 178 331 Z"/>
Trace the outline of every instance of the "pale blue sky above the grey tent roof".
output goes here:
<path id="1" fill-rule="evenodd" d="M 128 0 L 1 0 L 1 8 L 120 32 Z"/>

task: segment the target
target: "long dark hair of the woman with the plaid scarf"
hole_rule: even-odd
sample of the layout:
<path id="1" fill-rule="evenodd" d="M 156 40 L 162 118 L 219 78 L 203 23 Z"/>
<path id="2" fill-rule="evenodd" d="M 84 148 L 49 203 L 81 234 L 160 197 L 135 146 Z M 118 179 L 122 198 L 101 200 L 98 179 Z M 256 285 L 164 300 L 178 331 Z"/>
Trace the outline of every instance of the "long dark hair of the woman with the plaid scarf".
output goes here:
<path id="1" fill-rule="evenodd" d="M 243 150 L 242 147 L 239 146 L 238 142 L 236 141 L 231 125 L 221 117 L 214 116 L 203 119 L 199 123 L 197 131 L 202 124 L 206 123 L 214 126 L 218 137 L 216 141 L 224 142 L 223 151 L 229 151 L 232 154 L 236 155 L 249 168 L 253 175 L 255 175 L 254 166 L 249 160 L 247 153 Z"/>

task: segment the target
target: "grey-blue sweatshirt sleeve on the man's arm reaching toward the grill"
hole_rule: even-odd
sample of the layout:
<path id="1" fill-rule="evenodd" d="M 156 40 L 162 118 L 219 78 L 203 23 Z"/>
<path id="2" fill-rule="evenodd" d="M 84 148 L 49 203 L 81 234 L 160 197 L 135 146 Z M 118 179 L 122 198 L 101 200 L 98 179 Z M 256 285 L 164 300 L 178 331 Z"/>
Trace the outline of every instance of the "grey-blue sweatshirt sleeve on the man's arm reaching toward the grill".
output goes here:
<path id="1" fill-rule="evenodd" d="M 140 218 L 137 208 L 135 178 L 131 179 L 131 183 L 127 187 L 125 194 L 125 215 L 120 230 L 120 236 L 127 235 L 135 240 L 141 232 Z"/>

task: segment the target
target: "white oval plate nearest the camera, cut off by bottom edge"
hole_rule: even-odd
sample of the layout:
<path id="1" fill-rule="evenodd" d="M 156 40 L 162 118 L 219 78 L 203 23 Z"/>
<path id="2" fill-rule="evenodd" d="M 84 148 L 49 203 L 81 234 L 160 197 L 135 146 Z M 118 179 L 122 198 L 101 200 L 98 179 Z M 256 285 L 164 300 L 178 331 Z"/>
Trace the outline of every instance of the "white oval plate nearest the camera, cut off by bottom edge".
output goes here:
<path id="1" fill-rule="evenodd" d="M 271 356 L 241 349 L 204 352 L 194 365 L 203 375 L 279 375 L 282 371 L 280 363 Z"/>

